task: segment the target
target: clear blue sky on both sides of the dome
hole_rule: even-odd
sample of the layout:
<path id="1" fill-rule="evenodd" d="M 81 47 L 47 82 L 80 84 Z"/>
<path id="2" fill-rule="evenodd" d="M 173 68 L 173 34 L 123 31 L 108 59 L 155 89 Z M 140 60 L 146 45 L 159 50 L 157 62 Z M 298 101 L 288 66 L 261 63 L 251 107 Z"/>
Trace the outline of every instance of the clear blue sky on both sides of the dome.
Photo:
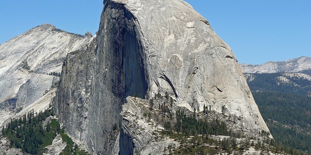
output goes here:
<path id="1" fill-rule="evenodd" d="M 207 18 L 240 63 L 311 57 L 311 0 L 186 0 Z M 50 23 L 94 34 L 102 0 L 0 0 L 0 44 Z"/>

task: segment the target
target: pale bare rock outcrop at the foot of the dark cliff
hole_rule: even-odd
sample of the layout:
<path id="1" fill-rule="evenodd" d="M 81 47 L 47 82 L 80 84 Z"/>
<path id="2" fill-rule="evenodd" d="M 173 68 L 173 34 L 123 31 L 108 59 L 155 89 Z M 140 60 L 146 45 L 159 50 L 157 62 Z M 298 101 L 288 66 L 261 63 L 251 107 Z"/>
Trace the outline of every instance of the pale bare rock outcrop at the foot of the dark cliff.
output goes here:
<path id="1" fill-rule="evenodd" d="M 126 101 L 121 112 L 119 155 L 128 155 L 129 153 L 160 155 L 165 154 L 165 148 L 168 146 L 177 148 L 180 145 L 179 142 L 168 137 L 160 138 L 161 135 L 158 131 L 163 127 L 156 124 L 154 120 L 147 120 L 148 118 L 143 116 L 143 111 L 140 108 L 146 106 L 143 100 L 127 97 Z"/>

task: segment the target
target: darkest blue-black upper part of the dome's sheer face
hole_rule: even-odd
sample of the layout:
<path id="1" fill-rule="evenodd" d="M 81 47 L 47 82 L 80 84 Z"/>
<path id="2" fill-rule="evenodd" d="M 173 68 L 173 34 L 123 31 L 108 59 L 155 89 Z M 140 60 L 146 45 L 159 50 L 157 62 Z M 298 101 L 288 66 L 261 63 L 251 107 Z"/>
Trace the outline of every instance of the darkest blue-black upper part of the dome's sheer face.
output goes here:
<path id="1" fill-rule="evenodd" d="M 123 4 L 105 3 L 95 51 L 100 59 L 96 59 L 95 67 L 98 72 L 103 71 L 103 84 L 118 97 L 144 97 L 148 89 L 144 51 L 136 31 L 137 23 Z"/>

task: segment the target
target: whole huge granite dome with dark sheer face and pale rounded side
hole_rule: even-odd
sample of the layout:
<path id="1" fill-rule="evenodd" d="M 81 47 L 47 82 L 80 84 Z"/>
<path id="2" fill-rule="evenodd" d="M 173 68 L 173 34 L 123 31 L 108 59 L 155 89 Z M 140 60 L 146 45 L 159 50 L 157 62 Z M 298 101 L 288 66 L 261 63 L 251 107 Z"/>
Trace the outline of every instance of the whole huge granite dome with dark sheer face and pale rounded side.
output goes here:
<path id="1" fill-rule="evenodd" d="M 60 80 L 54 108 L 93 154 L 115 152 L 111 130 L 129 95 L 168 92 L 178 106 L 205 105 L 241 117 L 244 130 L 269 131 L 232 50 L 182 0 L 104 0 L 96 37 L 67 56 Z"/>

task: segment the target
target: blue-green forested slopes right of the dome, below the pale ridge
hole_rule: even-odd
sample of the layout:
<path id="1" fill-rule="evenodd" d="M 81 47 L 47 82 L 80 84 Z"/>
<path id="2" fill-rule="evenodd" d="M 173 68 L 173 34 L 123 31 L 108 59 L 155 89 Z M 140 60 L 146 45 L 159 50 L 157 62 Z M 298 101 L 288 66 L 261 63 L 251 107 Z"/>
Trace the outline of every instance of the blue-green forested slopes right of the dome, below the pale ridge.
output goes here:
<path id="1" fill-rule="evenodd" d="M 245 74 L 245 77 L 276 142 L 310 154 L 311 81 L 293 75 Z"/>

